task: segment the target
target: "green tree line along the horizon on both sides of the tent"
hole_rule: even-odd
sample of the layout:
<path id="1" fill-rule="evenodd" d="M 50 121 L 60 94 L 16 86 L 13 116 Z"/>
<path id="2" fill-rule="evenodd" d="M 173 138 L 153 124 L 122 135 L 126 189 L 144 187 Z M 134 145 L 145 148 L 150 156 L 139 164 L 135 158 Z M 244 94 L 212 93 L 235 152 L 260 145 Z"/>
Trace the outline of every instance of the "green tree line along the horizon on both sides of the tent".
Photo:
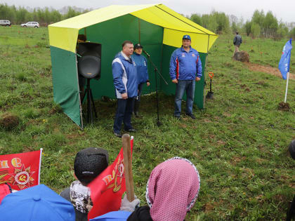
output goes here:
<path id="1" fill-rule="evenodd" d="M 24 8 L 0 4 L 0 19 L 10 20 L 13 25 L 19 25 L 28 21 L 39 22 L 47 26 L 67 18 L 91 11 L 76 7 L 64 7 L 61 10 L 54 8 Z M 193 22 L 209 29 L 217 34 L 230 34 L 242 32 L 247 36 L 279 39 L 283 37 L 295 37 L 295 22 L 282 22 L 277 20 L 271 11 L 254 11 L 251 20 L 244 22 L 243 18 L 235 15 L 225 15 L 223 12 L 211 11 L 210 14 L 199 15 L 193 13 L 186 16 Z"/>

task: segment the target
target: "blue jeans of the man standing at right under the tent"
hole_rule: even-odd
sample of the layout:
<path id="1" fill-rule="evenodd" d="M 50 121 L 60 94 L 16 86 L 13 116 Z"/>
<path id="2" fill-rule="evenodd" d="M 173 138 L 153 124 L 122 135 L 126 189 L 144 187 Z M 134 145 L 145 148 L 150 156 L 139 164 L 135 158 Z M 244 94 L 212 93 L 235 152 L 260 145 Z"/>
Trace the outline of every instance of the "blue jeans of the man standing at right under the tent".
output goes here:
<path id="1" fill-rule="evenodd" d="M 181 116 L 181 101 L 183 100 L 184 92 L 186 92 L 185 113 L 192 114 L 192 104 L 195 97 L 195 79 L 178 80 L 178 83 L 176 83 L 174 116 Z"/>

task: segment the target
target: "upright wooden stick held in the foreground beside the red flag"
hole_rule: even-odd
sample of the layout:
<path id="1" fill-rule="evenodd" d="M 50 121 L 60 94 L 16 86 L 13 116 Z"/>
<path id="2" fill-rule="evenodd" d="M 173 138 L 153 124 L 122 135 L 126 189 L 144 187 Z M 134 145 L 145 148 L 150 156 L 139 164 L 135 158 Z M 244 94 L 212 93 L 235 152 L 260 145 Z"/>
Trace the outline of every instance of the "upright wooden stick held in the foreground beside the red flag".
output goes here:
<path id="1" fill-rule="evenodd" d="M 131 202 L 134 200 L 134 187 L 133 187 L 133 175 L 132 175 L 130 135 L 127 133 L 122 135 L 122 142 L 123 142 L 126 194 L 127 194 L 127 199 L 129 200 L 129 202 Z"/>

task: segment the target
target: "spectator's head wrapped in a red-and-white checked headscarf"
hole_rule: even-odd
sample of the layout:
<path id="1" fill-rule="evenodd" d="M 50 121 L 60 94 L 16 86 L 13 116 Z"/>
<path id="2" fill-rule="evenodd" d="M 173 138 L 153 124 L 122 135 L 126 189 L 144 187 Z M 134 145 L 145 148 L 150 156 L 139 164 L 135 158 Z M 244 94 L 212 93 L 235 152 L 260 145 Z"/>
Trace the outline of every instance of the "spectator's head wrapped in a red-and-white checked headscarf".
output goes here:
<path id="1" fill-rule="evenodd" d="M 173 157 L 156 166 L 146 199 L 154 221 L 184 220 L 199 193 L 199 173 L 188 159 Z"/>

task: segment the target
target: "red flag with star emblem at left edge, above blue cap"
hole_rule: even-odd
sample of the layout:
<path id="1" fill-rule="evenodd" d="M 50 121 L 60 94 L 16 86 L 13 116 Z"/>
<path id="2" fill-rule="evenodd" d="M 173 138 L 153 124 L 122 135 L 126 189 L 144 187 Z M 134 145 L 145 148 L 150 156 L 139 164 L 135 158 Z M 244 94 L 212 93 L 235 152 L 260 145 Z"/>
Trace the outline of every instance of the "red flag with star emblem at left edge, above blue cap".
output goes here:
<path id="1" fill-rule="evenodd" d="M 40 183 L 42 149 L 20 154 L 0 155 L 0 184 L 21 190 Z"/>

